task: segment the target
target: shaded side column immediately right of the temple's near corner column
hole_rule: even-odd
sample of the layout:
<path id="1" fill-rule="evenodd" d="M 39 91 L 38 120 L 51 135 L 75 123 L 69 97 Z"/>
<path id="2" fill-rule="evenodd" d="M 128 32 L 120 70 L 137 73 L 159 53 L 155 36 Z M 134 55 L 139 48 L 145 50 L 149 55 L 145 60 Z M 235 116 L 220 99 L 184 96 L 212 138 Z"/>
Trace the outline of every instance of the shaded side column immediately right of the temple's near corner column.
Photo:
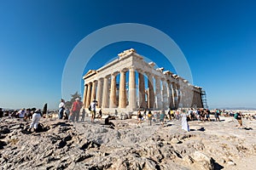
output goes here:
<path id="1" fill-rule="evenodd" d="M 140 108 L 146 108 L 145 99 L 145 78 L 143 73 L 138 73 L 138 85 L 139 85 L 139 105 Z"/>

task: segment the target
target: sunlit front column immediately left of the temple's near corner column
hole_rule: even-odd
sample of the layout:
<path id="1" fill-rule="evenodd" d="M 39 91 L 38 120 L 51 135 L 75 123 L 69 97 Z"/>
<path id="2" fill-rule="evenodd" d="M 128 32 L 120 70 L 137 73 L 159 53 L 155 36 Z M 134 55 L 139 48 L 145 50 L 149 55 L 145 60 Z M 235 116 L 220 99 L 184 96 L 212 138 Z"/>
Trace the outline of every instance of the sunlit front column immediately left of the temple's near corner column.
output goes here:
<path id="1" fill-rule="evenodd" d="M 119 108 L 126 107 L 125 71 L 120 71 L 119 80 Z"/>

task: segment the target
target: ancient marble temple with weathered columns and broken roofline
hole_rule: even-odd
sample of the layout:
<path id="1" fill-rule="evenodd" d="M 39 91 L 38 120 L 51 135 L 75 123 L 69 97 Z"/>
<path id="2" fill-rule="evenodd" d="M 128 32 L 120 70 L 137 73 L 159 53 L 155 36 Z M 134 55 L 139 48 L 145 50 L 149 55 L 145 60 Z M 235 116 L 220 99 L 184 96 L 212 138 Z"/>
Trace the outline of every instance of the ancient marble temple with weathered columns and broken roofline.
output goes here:
<path id="1" fill-rule="evenodd" d="M 98 108 L 109 112 L 203 107 L 200 87 L 154 66 L 131 48 L 108 65 L 88 71 L 83 77 L 85 108 L 95 99 Z"/>

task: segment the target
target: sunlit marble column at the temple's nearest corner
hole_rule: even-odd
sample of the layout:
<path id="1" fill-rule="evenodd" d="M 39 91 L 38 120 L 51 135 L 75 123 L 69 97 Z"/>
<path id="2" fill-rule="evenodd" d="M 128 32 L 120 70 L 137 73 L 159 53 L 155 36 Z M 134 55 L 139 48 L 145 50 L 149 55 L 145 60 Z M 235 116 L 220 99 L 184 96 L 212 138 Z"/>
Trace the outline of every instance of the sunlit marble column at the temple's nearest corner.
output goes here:
<path id="1" fill-rule="evenodd" d="M 135 81 L 134 67 L 131 67 L 129 69 L 129 108 L 137 109 L 137 95 L 136 95 L 136 81 Z"/>

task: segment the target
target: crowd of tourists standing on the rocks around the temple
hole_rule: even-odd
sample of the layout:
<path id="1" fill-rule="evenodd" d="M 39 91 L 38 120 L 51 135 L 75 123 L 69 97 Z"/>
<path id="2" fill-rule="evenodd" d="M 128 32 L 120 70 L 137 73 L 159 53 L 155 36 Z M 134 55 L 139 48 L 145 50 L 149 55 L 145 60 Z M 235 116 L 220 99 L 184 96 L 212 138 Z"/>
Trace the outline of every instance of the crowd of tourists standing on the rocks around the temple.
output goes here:
<path id="1" fill-rule="evenodd" d="M 102 109 L 100 109 L 96 116 L 96 106 L 97 101 L 93 100 L 88 110 L 90 111 L 90 122 L 94 122 L 96 118 L 101 120 L 102 122 Z M 45 113 L 44 113 L 45 114 Z M 71 108 L 65 105 L 65 100 L 61 99 L 59 104 L 58 118 L 61 120 L 67 120 L 68 122 L 84 122 L 84 117 L 86 115 L 85 108 L 83 103 L 79 98 L 75 99 Z M 214 119 L 211 119 L 212 116 Z M 0 117 L 9 116 L 16 118 L 23 118 L 25 121 L 31 120 L 32 123 L 30 125 L 29 131 L 38 129 L 38 122 L 40 118 L 43 116 L 41 110 L 32 108 L 32 109 L 20 109 L 15 111 L 3 111 L 0 108 Z M 148 122 L 148 125 L 151 126 L 153 122 L 160 122 L 160 125 L 164 127 L 165 122 L 172 120 L 179 120 L 182 124 L 182 129 L 189 132 L 189 123 L 190 121 L 201 121 L 201 122 L 210 122 L 215 121 L 219 122 L 219 116 L 234 116 L 234 118 L 239 123 L 239 127 L 242 127 L 242 118 L 246 118 L 247 120 L 256 119 L 256 114 L 242 114 L 241 111 L 233 112 L 233 111 L 225 111 L 215 109 L 214 111 L 209 111 L 208 109 L 177 109 L 177 110 L 169 110 L 169 111 L 151 111 L 151 110 L 138 110 L 137 111 L 137 126 L 141 127 L 143 122 Z M 81 119 L 79 120 L 79 118 Z M 113 122 L 109 120 L 113 118 L 112 116 L 107 116 L 104 124 L 110 125 L 114 127 Z"/>

